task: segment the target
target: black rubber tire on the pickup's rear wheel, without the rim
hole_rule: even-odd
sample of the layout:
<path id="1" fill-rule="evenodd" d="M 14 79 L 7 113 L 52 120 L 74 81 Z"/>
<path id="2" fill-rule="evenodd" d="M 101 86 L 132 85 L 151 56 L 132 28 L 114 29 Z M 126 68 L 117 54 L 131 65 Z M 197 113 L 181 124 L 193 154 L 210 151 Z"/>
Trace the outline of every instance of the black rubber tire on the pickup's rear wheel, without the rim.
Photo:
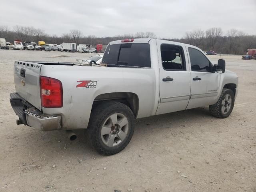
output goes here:
<path id="1" fill-rule="evenodd" d="M 115 113 L 123 114 L 128 120 L 128 131 L 124 140 L 117 146 L 107 146 L 102 141 L 101 129 L 104 122 Z M 120 102 L 104 102 L 94 107 L 88 124 L 90 143 L 97 152 L 103 155 L 114 155 L 122 151 L 130 142 L 134 133 L 134 114 L 132 110 Z"/>

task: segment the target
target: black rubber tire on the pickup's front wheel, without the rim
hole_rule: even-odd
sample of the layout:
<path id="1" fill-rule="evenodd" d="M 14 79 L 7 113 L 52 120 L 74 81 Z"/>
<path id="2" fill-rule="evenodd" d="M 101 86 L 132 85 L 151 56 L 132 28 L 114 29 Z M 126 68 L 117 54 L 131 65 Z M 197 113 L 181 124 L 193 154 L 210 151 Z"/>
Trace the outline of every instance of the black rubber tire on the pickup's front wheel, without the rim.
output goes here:
<path id="1" fill-rule="evenodd" d="M 222 112 L 222 101 L 227 94 L 231 96 L 231 104 L 230 104 L 231 106 L 229 111 L 227 113 L 224 113 Z M 231 89 L 224 88 L 222 90 L 222 93 L 220 94 L 220 98 L 218 99 L 218 101 L 215 104 L 209 106 L 210 113 L 214 117 L 227 118 L 231 114 L 234 108 L 234 102 L 235 102 L 234 92 Z"/>

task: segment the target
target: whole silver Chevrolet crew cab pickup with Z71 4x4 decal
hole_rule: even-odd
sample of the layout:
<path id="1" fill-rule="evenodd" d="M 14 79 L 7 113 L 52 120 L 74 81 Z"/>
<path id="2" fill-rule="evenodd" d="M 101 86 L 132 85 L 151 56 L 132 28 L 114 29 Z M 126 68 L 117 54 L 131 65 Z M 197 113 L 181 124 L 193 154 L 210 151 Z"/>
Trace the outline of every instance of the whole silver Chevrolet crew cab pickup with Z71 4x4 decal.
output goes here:
<path id="1" fill-rule="evenodd" d="M 102 64 L 15 61 L 14 82 L 17 124 L 69 134 L 88 128 L 105 155 L 127 146 L 136 118 L 201 106 L 226 118 L 238 94 L 224 60 L 212 64 L 195 46 L 158 39 L 110 42 Z"/>

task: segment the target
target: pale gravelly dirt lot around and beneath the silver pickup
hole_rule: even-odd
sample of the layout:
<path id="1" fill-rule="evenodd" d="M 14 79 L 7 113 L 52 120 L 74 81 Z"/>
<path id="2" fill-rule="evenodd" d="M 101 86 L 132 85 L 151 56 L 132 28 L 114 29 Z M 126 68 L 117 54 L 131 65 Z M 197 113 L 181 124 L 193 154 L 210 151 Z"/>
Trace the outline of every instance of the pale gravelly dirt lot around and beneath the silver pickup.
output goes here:
<path id="1" fill-rule="evenodd" d="M 14 60 L 91 55 L 0 50 L 0 191 L 256 192 L 256 60 L 223 56 L 239 76 L 229 118 L 205 107 L 139 119 L 130 144 L 114 156 L 97 154 L 83 131 L 70 142 L 62 131 L 16 125 L 9 103 Z M 220 56 L 210 58 L 216 64 Z"/>

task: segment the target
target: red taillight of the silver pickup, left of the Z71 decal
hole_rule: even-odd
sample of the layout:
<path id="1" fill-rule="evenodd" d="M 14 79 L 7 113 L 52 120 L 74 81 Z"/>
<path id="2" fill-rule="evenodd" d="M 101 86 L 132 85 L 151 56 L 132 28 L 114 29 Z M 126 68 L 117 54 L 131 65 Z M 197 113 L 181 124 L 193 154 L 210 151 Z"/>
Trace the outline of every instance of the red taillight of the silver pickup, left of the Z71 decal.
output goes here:
<path id="1" fill-rule="evenodd" d="M 40 92 L 42 107 L 63 106 L 62 83 L 58 79 L 40 76 Z"/>

